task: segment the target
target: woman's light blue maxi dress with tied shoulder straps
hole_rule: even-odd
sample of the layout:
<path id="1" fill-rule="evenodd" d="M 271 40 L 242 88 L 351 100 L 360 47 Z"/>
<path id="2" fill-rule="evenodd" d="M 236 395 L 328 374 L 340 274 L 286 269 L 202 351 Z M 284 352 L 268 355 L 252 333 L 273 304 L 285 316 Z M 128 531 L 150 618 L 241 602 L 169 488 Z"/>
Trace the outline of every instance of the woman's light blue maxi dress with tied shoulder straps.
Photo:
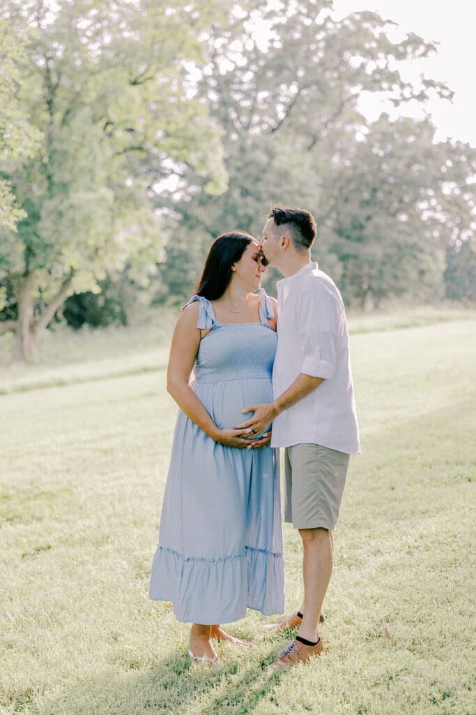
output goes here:
<path id="1" fill-rule="evenodd" d="M 217 322 L 206 298 L 191 388 L 220 428 L 250 415 L 247 405 L 273 400 L 271 374 L 278 337 L 268 326 L 273 306 L 260 291 L 260 322 Z M 184 306 L 185 307 L 185 306 Z M 178 621 L 229 623 L 246 608 L 284 611 L 279 454 L 271 447 L 221 445 L 181 410 L 173 436 L 150 597 L 172 601 Z"/>

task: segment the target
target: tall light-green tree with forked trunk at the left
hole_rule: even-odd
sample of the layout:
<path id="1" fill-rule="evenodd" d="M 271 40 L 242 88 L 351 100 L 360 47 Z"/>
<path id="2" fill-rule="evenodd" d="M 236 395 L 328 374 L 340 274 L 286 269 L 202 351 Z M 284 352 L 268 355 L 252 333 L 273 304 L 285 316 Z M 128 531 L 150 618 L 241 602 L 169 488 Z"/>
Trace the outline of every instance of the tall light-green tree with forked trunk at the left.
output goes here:
<path id="1" fill-rule="evenodd" d="M 136 280 L 151 270 L 163 243 L 153 183 L 177 162 L 193 167 L 205 192 L 226 188 L 219 129 L 189 79 L 222 5 L 2 4 L 0 20 L 27 38 L 7 71 L 10 83 L 21 76 L 16 107 L 31 117 L 36 142 L 4 157 L 0 174 L 0 200 L 10 192 L 0 279 L 17 307 L 0 333 L 14 330 L 16 358 L 35 358 L 72 292 L 98 291 L 98 280 L 126 265 Z"/>

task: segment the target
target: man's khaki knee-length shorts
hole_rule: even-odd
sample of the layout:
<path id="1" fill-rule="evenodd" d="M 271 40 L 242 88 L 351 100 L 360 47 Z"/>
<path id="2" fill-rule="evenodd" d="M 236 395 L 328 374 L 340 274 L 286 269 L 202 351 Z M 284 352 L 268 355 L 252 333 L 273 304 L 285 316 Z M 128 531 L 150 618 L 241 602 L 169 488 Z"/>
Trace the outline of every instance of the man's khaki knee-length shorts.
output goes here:
<path id="1" fill-rule="evenodd" d="M 285 521 L 296 529 L 333 529 L 350 455 L 310 443 L 286 447 Z"/>

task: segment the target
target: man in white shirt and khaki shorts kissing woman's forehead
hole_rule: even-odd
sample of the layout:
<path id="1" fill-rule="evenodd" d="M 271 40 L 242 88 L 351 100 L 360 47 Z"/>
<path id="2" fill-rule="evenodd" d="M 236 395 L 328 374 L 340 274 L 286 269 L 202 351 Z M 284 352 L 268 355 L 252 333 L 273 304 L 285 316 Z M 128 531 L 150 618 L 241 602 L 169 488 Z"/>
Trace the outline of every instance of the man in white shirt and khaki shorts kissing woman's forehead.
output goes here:
<path id="1" fill-rule="evenodd" d="M 310 260 L 315 236 L 308 211 L 270 211 L 263 254 L 284 276 L 277 285 L 275 400 L 245 407 L 253 418 L 238 425 L 258 434 L 273 422 L 271 444 L 285 447 L 285 521 L 303 539 L 303 601 L 296 613 L 270 626 L 300 626 L 299 632 L 272 669 L 323 651 L 318 623 L 333 567 L 333 529 L 349 455 L 360 452 L 345 309 L 334 282 Z"/>

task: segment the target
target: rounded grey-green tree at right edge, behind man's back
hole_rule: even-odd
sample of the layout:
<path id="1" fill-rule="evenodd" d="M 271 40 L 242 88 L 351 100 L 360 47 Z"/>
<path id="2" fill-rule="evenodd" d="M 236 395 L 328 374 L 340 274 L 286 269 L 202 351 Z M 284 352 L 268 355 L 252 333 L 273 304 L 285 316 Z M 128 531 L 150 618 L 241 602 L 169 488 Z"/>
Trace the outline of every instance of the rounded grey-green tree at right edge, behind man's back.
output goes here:
<path id="1" fill-rule="evenodd" d="M 383 115 L 338 172 L 343 189 L 329 201 L 320 251 L 338 258 L 340 287 L 355 305 L 444 295 L 445 247 L 474 211 L 476 152 L 435 144 L 434 134 L 428 120 Z"/>

